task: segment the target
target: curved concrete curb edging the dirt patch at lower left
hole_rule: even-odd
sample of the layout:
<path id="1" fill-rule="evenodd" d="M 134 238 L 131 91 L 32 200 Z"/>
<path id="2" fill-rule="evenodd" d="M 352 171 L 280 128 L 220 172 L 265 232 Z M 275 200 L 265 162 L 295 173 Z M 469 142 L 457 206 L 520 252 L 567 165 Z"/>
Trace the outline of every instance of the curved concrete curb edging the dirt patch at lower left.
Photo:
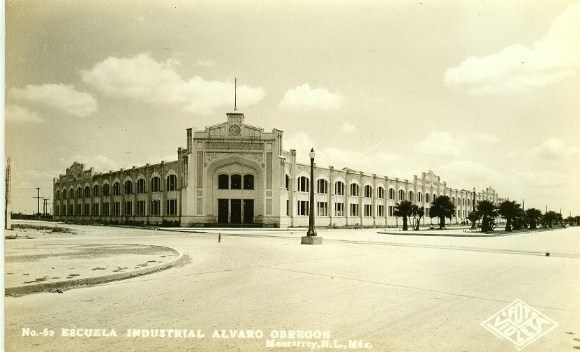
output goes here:
<path id="1" fill-rule="evenodd" d="M 103 284 L 105 282 L 110 281 L 118 281 L 123 279 L 130 279 L 131 277 L 140 277 L 143 275 L 151 274 L 153 272 L 158 272 L 161 270 L 170 269 L 171 267 L 177 266 L 184 261 L 184 254 L 177 249 L 173 249 L 170 247 L 165 247 L 172 249 L 173 251 L 177 252 L 177 258 L 174 258 L 172 261 L 168 261 L 166 263 L 161 263 L 159 265 L 153 267 L 143 267 L 138 270 L 133 270 L 130 272 L 117 272 L 116 274 L 108 274 L 100 277 L 87 277 L 85 279 L 70 279 L 70 280 L 63 280 L 63 281 L 55 281 L 55 282 L 43 282 L 40 284 L 30 284 L 30 285 L 23 285 L 23 286 L 14 286 L 14 287 L 6 287 L 4 289 L 4 295 L 19 295 L 19 294 L 27 294 L 27 293 L 40 293 L 47 290 L 52 289 L 64 289 L 70 287 L 77 287 L 77 286 L 93 286 L 97 284 Z"/>

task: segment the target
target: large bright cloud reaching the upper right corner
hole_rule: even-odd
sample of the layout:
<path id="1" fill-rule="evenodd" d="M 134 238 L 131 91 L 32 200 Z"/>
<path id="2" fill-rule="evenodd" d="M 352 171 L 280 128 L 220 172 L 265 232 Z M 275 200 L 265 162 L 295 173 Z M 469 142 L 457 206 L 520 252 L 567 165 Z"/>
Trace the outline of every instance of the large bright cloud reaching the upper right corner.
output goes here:
<path id="1" fill-rule="evenodd" d="M 445 85 L 471 95 L 500 94 L 545 87 L 576 75 L 580 62 L 580 3 L 572 3 L 542 40 L 511 45 L 485 57 L 468 57 L 445 71 Z"/>

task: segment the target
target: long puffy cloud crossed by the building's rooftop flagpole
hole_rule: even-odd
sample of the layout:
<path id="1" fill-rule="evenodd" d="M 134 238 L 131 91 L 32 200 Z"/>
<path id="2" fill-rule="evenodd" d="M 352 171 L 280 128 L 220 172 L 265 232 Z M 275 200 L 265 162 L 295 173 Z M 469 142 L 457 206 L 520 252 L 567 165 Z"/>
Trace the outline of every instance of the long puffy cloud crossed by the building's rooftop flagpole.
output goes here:
<path id="1" fill-rule="evenodd" d="M 156 61 L 147 53 L 135 57 L 109 57 L 91 70 L 82 71 L 84 82 L 105 94 L 134 98 L 156 104 L 183 104 L 191 112 L 211 113 L 223 105 L 233 105 L 234 84 L 204 80 L 194 76 L 184 80 L 177 73 L 179 61 Z M 262 100 L 261 87 L 237 87 L 237 101 L 247 106 Z"/>

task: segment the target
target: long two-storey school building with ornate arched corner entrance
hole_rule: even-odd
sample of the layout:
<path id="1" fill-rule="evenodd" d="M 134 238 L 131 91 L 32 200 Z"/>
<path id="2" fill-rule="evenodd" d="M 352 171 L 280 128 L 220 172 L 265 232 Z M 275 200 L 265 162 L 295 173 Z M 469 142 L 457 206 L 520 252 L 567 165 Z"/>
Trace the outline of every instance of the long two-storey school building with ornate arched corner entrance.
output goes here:
<path id="1" fill-rule="evenodd" d="M 473 210 L 473 191 L 448 186 L 433 171 L 411 180 L 350 168 L 297 163 L 283 148 L 283 131 L 266 132 L 228 112 L 227 121 L 204 131 L 187 129 L 186 147 L 170 161 L 96 173 L 73 163 L 53 179 L 54 219 L 75 222 L 174 226 L 308 226 L 310 182 L 315 183 L 317 226 L 398 225 L 394 205 L 410 200 L 429 207 L 437 196 L 456 205 L 453 223 Z M 491 187 L 476 202 L 500 203 Z"/>

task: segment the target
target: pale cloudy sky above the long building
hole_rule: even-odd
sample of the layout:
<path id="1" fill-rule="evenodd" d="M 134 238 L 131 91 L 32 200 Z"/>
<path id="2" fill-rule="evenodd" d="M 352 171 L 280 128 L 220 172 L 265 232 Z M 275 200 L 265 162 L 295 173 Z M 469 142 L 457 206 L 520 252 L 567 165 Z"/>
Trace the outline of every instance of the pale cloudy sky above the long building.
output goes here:
<path id="1" fill-rule="evenodd" d="M 580 215 L 580 3 L 8 1 L 12 210 L 74 161 L 177 160 L 186 129 L 283 131 L 318 166 L 491 186 Z M 42 204 L 41 204 L 42 209 Z"/>

